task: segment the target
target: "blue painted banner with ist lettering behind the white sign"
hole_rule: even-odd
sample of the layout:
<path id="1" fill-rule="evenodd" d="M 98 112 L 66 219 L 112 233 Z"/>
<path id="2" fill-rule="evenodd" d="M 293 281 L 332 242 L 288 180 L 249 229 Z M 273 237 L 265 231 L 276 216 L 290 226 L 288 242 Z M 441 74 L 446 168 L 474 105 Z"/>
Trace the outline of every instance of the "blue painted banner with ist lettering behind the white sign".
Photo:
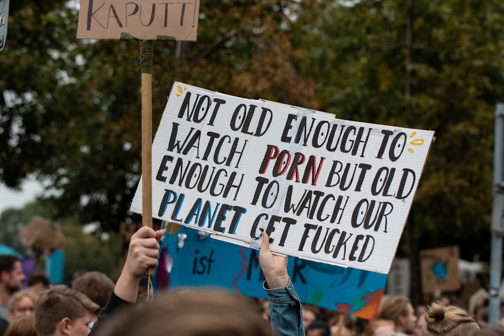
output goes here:
<path id="1" fill-rule="evenodd" d="M 201 233 L 204 232 L 180 226 L 175 234 L 165 235 L 154 276 L 155 288 L 161 289 L 169 282 L 170 290 L 217 287 L 266 298 L 259 251 Z M 376 316 L 387 281 L 385 274 L 295 257 L 289 257 L 288 272 L 301 302 L 364 319 Z"/>

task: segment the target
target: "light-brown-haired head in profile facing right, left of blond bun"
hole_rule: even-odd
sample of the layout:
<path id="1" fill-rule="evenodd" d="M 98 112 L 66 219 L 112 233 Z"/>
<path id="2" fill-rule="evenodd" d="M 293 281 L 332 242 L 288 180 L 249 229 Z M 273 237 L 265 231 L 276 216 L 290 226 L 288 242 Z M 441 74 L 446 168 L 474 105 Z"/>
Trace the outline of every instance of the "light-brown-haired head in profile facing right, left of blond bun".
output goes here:
<path id="1" fill-rule="evenodd" d="M 380 306 L 378 318 L 391 320 L 396 325 L 396 331 L 413 333 L 417 317 L 411 301 L 406 296 L 392 296 Z"/>

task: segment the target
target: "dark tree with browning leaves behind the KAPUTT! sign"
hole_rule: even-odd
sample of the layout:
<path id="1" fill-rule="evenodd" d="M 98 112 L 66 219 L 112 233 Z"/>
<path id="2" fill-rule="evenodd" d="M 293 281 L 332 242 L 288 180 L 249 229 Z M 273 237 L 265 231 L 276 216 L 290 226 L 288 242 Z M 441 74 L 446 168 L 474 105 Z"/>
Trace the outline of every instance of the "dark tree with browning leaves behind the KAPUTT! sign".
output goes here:
<path id="1" fill-rule="evenodd" d="M 285 4 L 202 4 L 198 42 L 155 42 L 153 124 L 171 83 L 248 98 L 316 106 L 312 85 L 290 63 Z M 20 1 L 11 10 L 0 101 L 0 179 L 15 187 L 30 172 L 55 189 L 56 218 L 116 230 L 140 178 L 137 41 L 78 40 L 77 11 Z M 37 21 L 40 17 L 42 20 Z M 29 23 L 29 24 L 28 24 Z M 215 28 L 217 27 L 217 29 Z M 22 59 L 23 61 L 19 61 Z M 9 88 L 8 90 L 6 88 Z M 22 167 L 19 169 L 18 167 Z"/>

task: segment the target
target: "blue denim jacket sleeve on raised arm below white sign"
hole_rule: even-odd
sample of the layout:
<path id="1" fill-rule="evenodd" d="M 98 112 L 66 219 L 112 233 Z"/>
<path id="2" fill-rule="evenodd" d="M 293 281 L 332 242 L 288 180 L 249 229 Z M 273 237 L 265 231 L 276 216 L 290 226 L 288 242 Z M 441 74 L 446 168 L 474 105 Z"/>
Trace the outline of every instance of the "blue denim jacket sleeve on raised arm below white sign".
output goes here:
<path id="1" fill-rule="evenodd" d="M 304 336 L 301 301 L 289 279 L 287 287 L 263 288 L 268 295 L 271 327 L 275 336 Z"/>

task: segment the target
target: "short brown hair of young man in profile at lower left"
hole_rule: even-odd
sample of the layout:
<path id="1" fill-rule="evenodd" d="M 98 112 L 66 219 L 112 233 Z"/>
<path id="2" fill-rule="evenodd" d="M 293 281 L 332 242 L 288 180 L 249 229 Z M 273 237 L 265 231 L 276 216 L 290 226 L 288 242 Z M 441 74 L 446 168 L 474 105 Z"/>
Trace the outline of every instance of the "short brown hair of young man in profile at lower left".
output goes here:
<path id="1" fill-rule="evenodd" d="M 39 336 L 51 335 L 56 324 L 65 317 L 77 319 L 94 313 L 98 305 L 79 291 L 56 285 L 43 292 L 35 306 L 35 328 Z"/>

